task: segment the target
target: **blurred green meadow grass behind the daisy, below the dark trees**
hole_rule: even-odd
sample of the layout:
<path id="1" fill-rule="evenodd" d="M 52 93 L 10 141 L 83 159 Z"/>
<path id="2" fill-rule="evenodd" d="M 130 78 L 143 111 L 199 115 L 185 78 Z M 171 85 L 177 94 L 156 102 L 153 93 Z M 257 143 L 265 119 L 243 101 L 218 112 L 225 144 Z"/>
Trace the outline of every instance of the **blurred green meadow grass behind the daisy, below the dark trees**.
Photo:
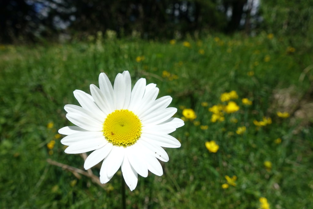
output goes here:
<path id="1" fill-rule="evenodd" d="M 177 129 L 172 135 L 182 147 L 167 149 L 170 160 L 162 164 L 164 175 L 139 177 L 133 192 L 126 189 L 128 208 L 259 208 L 259 197 L 266 197 L 270 208 L 313 208 L 313 129 L 308 125 L 312 118 L 293 114 L 301 111 L 303 102 L 312 102 L 303 96 L 312 83 L 312 70 L 303 70 L 313 60 L 313 53 L 303 46 L 312 43 L 294 45 L 295 52 L 288 53 L 285 37 L 219 38 L 190 41 L 191 48 L 182 42 L 106 39 L 2 47 L 0 208 L 120 208 L 120 171 L 102 188 L 46 160 L 84 170 L 83 159 L 65 154 L 59 139 L 51 155 L 47 144 L 59 128 L 70 125 L 63 107 L 78 105 L 75 89 L 90 93 L 89 85 L 98 85 L 100 72 L 113 81 L 123 70 L 130 71 L 133 84 L 145 77 L 160 88 L 159 97 L 171 95 L 176 117 L 182 117 L 180 107 L 192 108 L 195 121 L 209 127 L 202 130 L 186 121 Z M 145 59 L 136 62 L 137 56 Z M 163 71 L 177 79 L 163 78 Z M 295 99 L 289 105 L 274 96 L 285 89 Z M 226 104 L 220 95 L 232 90 L 239 95 L 233 101 L 240 110 L 225 113 L 223 122 L 210 122 L 208 107 Z M 253 104 L 244 106 L 244 97 Z M 299 98 L 305 98 L 301 105 Z M 208 107 L 201 102 L 208 102 Z M 288 111 L 291 117 L 278 118 L 276 111 Z M 263 116 L 273 123 L 257 129 L 253 121 Z M 238 123 L 230 122 L 233 117 Z M 49 122 L 53 128 L 47 128 Z M 235 133 L 239 126 L 247 127 L 243 135 Z M 276 138 L 282 143 L 275 144 Z M 204 145 L 211 140 L 219 145 L 217 153 Z M 265 169 L 265 160 L 272 162 L 271 170 Z M 92 170 L 99 175 L 99 168 Z M 237 185 L 223 189 L 225 175 L 236 175 Z"/>

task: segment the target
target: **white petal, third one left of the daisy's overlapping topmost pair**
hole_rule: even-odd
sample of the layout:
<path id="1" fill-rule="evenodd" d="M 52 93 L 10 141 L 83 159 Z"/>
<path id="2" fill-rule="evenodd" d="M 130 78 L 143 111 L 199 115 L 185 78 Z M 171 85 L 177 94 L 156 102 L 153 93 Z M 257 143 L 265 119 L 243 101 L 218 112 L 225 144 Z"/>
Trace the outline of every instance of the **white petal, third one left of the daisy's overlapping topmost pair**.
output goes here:
<path id="1" fill-rule="evenodd" d="M 105 117 L 105 114 L 99 109 L 99 107 L 95 104 L 93 97 L 91 97 L 89 94 L 85 93 L 84 91 L 75 90 L 74 97 L 84 109 L 89 110 L 93 114 L 99 115 L 102 118 Z"/>

